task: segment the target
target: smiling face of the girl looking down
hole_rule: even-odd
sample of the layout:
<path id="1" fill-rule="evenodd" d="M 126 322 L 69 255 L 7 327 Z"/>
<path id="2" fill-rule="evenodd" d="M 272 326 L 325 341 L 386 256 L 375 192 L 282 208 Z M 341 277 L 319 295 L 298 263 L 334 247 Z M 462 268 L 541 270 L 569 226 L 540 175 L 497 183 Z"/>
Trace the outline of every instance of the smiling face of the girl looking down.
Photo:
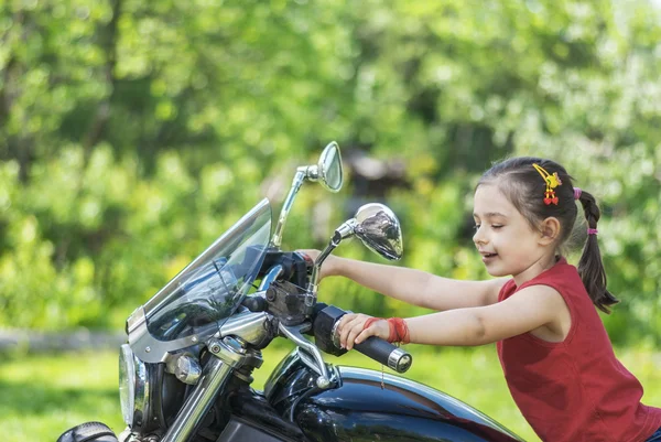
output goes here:
<path id="1" fill-rule="evenodd" d="M 542 234 L 532 229 L 498 186 L 477 187 L 473 217 L 476 226 L 473 241 L 489 274 L 511 274 L 522 281 L 539 274 L 535 265 L 549 252 L 541 241 Z"/>

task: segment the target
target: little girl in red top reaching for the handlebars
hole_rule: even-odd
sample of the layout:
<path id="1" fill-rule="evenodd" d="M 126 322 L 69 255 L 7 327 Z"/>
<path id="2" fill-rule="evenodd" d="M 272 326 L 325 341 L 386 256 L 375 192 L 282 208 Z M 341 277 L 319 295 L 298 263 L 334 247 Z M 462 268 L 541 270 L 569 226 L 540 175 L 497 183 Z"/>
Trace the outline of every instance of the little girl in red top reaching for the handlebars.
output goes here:
<path id="1" fill-rule="evenodd" d="M 559 252 L 576 220 L 575 200 L 588 226 L 577 269 Z M 441 311 L 405 320 L 347 314 L 338 325 L 340 343 L 350 349 L 371 335 L 434 345 L 497 343 L 512 398 L 543 441 L 661 441 L 661 409 L 640 402 L 642 387 L 616 358 L 596 311 L 617 303 L 606 290 L 599 216 L 593 195 L 573 187 L 560 164 L 500 162 L 476 187 L 473 240 L 489 274 L 511 279 L 459 281 L 332 257 L 322 277 L 350 278 Z"/>

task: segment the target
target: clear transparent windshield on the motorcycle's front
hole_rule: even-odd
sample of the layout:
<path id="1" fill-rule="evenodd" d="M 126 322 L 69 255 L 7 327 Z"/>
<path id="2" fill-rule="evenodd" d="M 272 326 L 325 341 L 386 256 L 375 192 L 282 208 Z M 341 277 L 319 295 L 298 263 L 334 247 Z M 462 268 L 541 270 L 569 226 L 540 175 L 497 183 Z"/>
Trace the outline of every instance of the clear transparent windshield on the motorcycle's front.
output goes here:
<path id="1" fill-rule="evenodd" d="M 150 335 L 213 336 L 257 278 L 270 237 L 271 207 L 263 200 L 144 304 Z"/>

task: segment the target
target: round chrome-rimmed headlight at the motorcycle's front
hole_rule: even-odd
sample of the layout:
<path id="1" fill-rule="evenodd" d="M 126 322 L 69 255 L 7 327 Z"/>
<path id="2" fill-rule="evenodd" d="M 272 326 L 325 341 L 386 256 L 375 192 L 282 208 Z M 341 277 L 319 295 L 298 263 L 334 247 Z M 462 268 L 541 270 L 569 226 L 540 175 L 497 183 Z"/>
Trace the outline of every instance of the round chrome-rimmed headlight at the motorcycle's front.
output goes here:
<path id="1" fill-rule="evenodd" d="M 119 399 L 127 425 L 142 425 L 149 411 L 148 374 L 144 363 L 136 357 L 129 344 L 123 344 L 119 352 Z"/>

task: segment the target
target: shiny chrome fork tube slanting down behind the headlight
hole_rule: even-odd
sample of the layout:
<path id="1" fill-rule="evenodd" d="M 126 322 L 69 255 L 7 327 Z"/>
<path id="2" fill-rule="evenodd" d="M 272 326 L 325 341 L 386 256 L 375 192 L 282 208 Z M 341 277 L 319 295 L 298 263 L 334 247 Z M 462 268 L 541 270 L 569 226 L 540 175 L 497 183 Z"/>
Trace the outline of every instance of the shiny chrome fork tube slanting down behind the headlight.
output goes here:
<path id="1" fill-rule="evenodd" d="M 214 403 L 216 395 L 229 379 L 232 367 L 212 357 L 204 367 L 195 390 L 165 433 L 162 442 L 186 442 Z"/>

